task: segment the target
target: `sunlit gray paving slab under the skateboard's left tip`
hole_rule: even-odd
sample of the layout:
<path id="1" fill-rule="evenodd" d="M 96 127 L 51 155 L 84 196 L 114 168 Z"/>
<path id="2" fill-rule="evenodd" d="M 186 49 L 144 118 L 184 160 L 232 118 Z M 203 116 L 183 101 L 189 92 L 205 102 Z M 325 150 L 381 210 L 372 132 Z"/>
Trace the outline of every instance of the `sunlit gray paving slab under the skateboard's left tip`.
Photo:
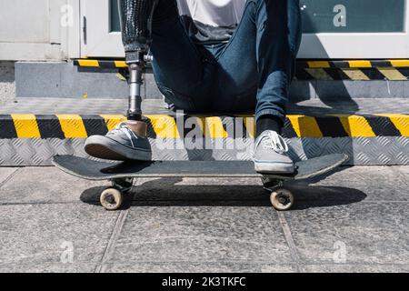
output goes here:
<path id="1" fill-rule="evenodd" d="M 79 202 L 85 190 L 99 199 L 104 186 L 109 183 L 79 179 L 55 167 L 25 167 L 0 187 L 0 204 Z"/>

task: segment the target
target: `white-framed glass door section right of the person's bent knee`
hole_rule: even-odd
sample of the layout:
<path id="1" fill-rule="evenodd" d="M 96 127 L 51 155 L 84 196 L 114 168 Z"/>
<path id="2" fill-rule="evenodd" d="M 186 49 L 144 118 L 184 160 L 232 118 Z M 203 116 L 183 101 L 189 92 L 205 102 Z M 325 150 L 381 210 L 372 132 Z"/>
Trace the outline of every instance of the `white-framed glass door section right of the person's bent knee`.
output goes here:
<path id="1" fill-rule="evenodd" d="M 406 0 L 301 0 L 299 57 L 409 57 Z"/>

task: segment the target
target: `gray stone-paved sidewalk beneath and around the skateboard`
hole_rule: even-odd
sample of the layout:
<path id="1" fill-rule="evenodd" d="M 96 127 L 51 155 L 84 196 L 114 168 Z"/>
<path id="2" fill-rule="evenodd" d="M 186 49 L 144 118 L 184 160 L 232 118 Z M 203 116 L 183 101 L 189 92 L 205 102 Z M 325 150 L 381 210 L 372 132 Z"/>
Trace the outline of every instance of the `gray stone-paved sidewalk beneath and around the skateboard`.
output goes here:
<path id="1" fill-rule="evenodd" d="M 118 212 L 107 185 L 0 168 L 0 271 L 409 272 L 408 166 L 293 185 L 285 213 L 258 179 L 139 179 Z"/>

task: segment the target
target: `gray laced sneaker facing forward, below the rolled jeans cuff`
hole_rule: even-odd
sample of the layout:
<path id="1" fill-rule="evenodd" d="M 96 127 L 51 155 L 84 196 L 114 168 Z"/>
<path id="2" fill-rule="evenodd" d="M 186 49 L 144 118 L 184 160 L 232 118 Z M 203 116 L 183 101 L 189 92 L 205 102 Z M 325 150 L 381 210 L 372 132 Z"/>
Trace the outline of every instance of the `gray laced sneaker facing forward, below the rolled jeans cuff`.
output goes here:
<path id="1" fill-rule="evenodd" d="M 284 138 L 275 131 L 265 130 L 254 144 L 254 168 L 259 173 L 292 174 L 294 162 L 287 155 Z"/>

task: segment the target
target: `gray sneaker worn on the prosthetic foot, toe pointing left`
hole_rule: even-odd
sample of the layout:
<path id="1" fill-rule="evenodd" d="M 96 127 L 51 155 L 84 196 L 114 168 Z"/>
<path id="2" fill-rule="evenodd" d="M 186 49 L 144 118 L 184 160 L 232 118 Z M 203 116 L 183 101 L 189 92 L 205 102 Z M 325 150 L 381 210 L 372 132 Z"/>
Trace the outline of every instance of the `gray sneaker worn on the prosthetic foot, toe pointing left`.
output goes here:
<path id="1" fill-rule="evenodd" d="M 136 135 L 125 123 L 106 135 L 92 135 L 85 141 L 85 152 L 107 160 L 150 161 L 152 149 L 146 137 Z"/>

